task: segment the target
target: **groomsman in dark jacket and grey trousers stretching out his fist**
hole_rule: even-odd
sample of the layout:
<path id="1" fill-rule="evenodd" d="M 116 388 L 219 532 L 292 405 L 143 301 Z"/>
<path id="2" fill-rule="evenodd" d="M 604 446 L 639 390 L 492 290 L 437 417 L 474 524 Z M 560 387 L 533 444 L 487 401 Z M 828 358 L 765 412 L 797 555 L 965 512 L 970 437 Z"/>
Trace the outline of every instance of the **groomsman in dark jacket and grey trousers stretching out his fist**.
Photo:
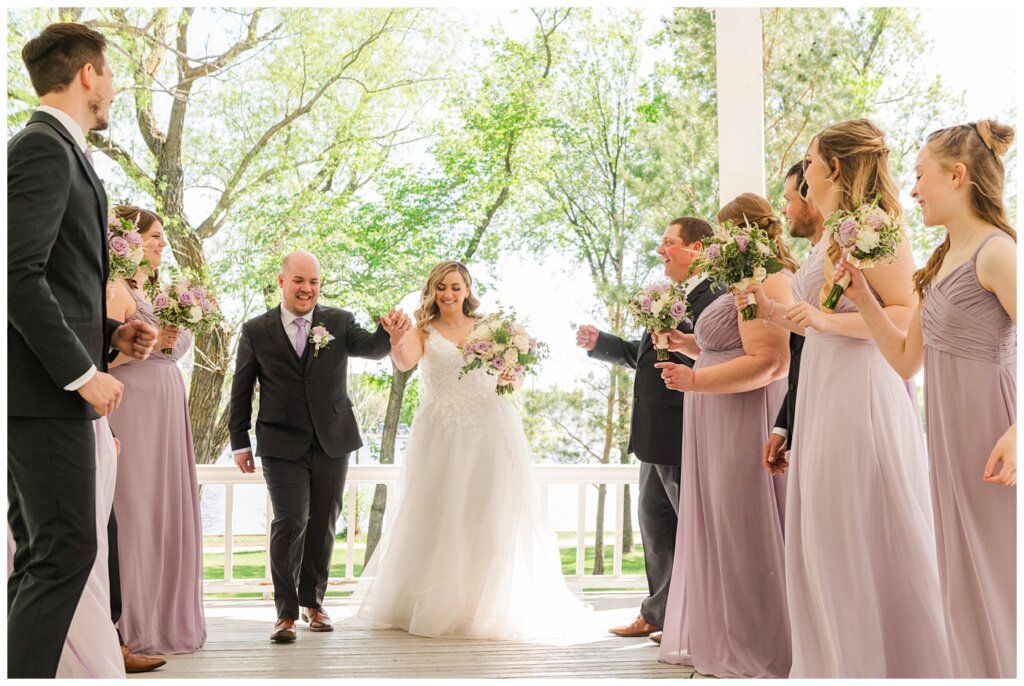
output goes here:
<path id="1" fill-rule="evenodd" d="M 724 289 L 712 288 L 708 280 L 699 274 L 688 280 L 686 275 L 702 248 L 701 242 L 711 234 L 712 227 L 703 219 L 680 217 L 669 224 L 657 248 L 657 254 L 665 262 L 666 276 L 674 283 L 686 280 L 686 299 L 693 312 L 693 320 L 683 320 L 679 330 L 687 334 L 693 332 L 693 326 L 705 307 L 725 293 Z M 595 359 L 636 370 L 629 451 L 636 454 L 640 461 L 638 512 L 650 595 L 641 603 L 640 614 L 632 624 L 609 631 L 616 636 L 649 636 L 660 631 L 665 623 L 665 606 L 669 601 L 669 582 L 676 550 L 683 449 L 683 394 L 665 387 L 660 371 L 654 368 L 656 352 L 648 331 L 639 341 L 626 341 L 599 332 L 594 327 L 583 326 L 577 332 L 577 344 Z M 670 354 L 676 361 L 693 367 L 689 357 Z"/>

